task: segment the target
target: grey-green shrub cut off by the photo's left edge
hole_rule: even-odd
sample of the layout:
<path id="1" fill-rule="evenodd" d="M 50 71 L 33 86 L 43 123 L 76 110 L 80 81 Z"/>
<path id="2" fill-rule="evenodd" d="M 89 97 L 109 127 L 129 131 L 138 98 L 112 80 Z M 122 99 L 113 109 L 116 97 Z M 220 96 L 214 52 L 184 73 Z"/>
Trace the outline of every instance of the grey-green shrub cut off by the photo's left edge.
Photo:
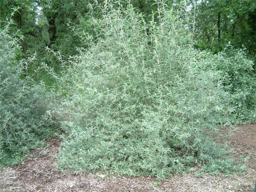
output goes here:
<path id="1" fill-rule="evenodd" d="M 54 95 L 24 74 L 33 57 L 19 59 L 20 38 L 10 34 L 11 24 L 0 29 L 0 166 L 18 163 L 58 132 L 50 103 Z"/>

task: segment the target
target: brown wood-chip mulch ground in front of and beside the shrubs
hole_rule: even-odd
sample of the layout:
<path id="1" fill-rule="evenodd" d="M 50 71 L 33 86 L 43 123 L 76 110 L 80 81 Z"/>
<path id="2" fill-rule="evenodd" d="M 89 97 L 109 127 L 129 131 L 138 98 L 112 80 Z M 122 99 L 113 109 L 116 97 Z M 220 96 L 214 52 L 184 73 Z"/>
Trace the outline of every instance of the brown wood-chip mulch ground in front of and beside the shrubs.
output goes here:
<path id="1" fill-rule="evenodd" d="M 174 175 L 159 182 L 155 178 L 114 176 L 109 174 L 65 174 L 57 170 L 54 156 L 58 153 L 59 138 L 47 141 L 43 150 L 33 150 L 22 164 L 0 170 L 0 191 L 253 191 L 256 179 L 256 124 L 240 126 L 229 139 L 234 155 L 251 156 L 246 175 L 225 177 L 223 174 L 202 178 L 187 174 Z"/>

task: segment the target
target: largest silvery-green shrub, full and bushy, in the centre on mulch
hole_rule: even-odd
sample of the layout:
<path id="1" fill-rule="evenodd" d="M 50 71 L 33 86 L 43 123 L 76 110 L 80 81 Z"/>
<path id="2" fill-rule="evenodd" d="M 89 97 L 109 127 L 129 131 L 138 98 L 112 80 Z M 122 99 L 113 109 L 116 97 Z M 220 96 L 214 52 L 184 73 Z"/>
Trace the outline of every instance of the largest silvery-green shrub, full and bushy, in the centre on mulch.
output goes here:
<path id="1" fill-rule="evenodd" d="M 85 38 L 89 50 L 59 80 L 69 114 L 60 166 L 158 178 L 194 165 L 235 170 L 229 150 L 210 138 L 229 123 L 230 95 L 208 68 L 214 59 L 193 49 L 185 8 L 159 3 L 150 23 L 131 6 L 104 9 L 93 23 L 97 43 Z"/>

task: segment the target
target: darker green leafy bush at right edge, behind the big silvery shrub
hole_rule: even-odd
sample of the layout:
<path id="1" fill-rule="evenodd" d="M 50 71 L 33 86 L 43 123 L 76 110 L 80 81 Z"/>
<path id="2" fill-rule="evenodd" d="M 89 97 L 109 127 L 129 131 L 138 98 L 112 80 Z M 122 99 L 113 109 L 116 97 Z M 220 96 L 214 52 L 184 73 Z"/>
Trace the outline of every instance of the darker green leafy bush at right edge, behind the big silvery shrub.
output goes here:
<path id="1" fill-rule="evenodd" d="M 223 53 L 215 65 L 223 76 L 225 90 L 232 96 L 233 124 L 255 123 L 256 120 L 256 75 L 253 61 L 246 57 L 245 50 L 229 50 Z"/>

